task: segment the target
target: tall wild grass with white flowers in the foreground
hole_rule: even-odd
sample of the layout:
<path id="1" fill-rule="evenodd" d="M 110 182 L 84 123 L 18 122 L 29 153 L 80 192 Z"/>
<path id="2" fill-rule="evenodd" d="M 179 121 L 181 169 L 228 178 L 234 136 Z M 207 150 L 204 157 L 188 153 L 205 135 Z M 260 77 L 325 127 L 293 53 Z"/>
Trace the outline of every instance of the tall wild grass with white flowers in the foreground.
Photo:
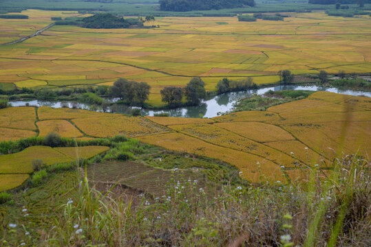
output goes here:
<path id="1" fill-rule="evenodd" d="M 129 200 L 102 194 L 84 178 L 43 244 L 369 246 L 370 161 L 345 156 L 332 168 L 303 169 L 301 183 L 226 185 L 220 194 L 171 180 L 160 198 Z"/>

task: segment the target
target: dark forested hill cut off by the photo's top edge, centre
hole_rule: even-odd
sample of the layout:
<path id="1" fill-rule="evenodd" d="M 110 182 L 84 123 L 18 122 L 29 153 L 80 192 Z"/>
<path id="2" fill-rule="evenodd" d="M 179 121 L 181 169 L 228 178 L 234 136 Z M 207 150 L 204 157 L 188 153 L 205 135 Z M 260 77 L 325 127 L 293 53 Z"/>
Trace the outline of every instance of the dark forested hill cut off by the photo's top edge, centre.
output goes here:
<path id="1" fill-rule="evenodd" d="M 255 6 L 254 0 L 160 0 L 161 11 L 221 10 Z"/>

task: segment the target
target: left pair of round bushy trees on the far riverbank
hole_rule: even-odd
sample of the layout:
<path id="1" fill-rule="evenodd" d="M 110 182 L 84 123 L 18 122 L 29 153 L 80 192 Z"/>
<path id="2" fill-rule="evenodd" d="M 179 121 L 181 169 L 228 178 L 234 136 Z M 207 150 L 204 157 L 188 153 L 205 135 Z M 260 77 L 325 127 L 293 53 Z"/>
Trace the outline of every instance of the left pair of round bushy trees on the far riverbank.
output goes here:
<path id="1" fill-rule="evenodd" d="M 110 94 L 127 102 L 127 104 L 139 104 L 143 106 L 148 99 L 151 86 L 146 82 L 134 82 L 120 78 L 110 88 Z"/>

